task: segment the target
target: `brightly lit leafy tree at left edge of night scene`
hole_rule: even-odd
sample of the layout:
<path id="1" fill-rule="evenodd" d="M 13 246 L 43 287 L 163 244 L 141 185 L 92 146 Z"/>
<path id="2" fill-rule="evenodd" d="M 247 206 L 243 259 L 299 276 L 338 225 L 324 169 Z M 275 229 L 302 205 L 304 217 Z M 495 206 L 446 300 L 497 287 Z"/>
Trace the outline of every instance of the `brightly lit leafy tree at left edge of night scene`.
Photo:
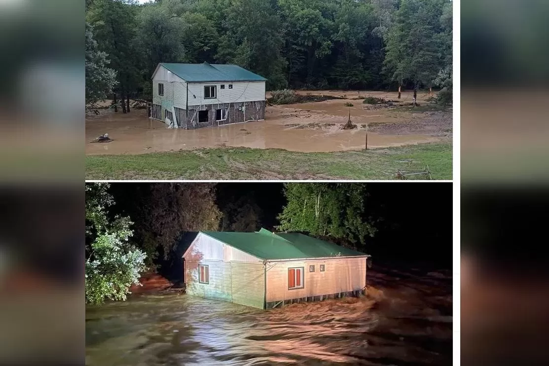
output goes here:
<path id="1" fill-rule="evenodd" d="M 128 243 L 130 218 L 109 215 L 114 200 L 108 188 L 86 185 L 86 302 L 94 305 L 126 300 L 145 269 L 144 252 Z"/>

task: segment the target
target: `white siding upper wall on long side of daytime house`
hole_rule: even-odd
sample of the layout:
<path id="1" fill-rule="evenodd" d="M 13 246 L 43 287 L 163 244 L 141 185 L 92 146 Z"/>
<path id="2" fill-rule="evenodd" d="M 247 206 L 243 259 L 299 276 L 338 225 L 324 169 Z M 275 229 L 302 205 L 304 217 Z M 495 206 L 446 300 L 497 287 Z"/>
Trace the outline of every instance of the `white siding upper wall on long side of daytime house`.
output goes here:
<path id="1" fill-rule="evenodd" d="M 233 85 L 229 89 L 229 84 Z M 204 99 L 204 86 L 217 86 L 217 98 Z M 225 85 L 225 89 L 221 89 Z M 189 105 L 255 102 L 265 100 L 264 81 L 189 83 Z"/>

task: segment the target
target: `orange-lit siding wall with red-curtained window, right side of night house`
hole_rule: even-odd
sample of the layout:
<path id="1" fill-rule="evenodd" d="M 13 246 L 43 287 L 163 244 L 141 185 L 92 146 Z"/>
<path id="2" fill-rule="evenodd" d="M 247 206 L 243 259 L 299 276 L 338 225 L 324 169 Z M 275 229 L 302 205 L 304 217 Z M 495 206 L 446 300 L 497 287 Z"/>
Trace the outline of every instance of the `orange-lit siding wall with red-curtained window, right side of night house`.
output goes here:
<path id="1" fill-rule="evenodd" d="M 315 265 L 315 272 L 309 266 Z M 320 272 L 320 264 L 326 271 Z M 288 289 L 288 268 L 304 268 L 304 288 Z M 267 263 L 267 302 L 362 290 L 366 286 L 366 258 L 341 258 Z"/>

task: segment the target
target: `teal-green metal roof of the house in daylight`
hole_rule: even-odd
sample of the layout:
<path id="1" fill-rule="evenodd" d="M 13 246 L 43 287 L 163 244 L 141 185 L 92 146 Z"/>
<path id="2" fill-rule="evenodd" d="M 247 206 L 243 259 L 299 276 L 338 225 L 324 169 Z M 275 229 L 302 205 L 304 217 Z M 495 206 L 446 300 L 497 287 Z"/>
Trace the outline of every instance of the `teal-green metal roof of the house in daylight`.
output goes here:
<path id="1" fill-rule="evenodd" d="M 202 64 L 160 63 L 160 65 L 189 82 L 267 80 L 237 65 L 208 64 L 206 62 Z"/>

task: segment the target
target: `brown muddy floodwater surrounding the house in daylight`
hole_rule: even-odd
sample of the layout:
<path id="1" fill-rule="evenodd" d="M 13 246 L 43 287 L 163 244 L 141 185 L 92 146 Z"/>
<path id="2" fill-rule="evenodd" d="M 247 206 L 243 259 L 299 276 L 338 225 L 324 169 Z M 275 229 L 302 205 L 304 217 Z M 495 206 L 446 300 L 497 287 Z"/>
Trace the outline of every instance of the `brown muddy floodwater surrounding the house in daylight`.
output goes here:
<path id="1" fill-rule="evenodd" d="M 333 95 L 346 99 L 324 102 L 267 106 L 265 121 L 236 123 L 194 130 L 168 129 L 160 121 L 149 120 L 144 109 L 130 114 L 100 110 L 86 120 L 86 154 L 142 154 L 160 151 L 211 147 L 285 149 L 304 153 L 385 148 L 451 139 L 451 111 L 423 111 L 401 107 L 412 102 L 412 92 L 402 93 L 393 106 L 363 104 L 360 97 L 397 100 L 396 93 L 367 91 L 298 91 Z M 267 95 L 268 96 L 268 95 Z M 428 94 L 419 93 L 418 103 L 427 105 Z M 351 102 L 352 107 L 344 106 Z M 351 112 L 356 129 L 340 129 Z M 91 143 L 108 133 L 109 143 Z"/>

